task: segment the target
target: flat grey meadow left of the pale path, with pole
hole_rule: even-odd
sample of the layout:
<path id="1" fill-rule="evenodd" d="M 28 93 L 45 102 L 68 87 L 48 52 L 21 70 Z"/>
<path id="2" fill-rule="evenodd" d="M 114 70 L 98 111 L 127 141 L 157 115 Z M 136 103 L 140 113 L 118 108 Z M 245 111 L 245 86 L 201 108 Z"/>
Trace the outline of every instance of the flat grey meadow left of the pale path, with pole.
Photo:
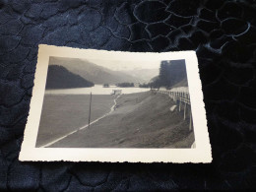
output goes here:
<path id="1" fill-rule="evenodd" d="M 93 121 L 110 110 L 114 104 L 114 96 L 96 95 L 92 98 Z M 88 124 L 89 103 L 89 95 L 45 95 L 36 147 L 50 143 Z"/>

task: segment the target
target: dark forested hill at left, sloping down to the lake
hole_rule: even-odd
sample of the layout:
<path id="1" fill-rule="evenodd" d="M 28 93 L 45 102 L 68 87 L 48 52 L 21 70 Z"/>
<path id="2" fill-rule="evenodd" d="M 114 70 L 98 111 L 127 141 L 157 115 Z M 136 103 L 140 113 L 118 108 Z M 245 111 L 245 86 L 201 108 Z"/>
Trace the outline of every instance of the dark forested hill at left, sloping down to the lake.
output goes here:
<path id="1" fill-rule="evenodd" d="M 73 74 L 63 66 L 49 65 L 46 90 L 93 87 L 94 83 Z"/>

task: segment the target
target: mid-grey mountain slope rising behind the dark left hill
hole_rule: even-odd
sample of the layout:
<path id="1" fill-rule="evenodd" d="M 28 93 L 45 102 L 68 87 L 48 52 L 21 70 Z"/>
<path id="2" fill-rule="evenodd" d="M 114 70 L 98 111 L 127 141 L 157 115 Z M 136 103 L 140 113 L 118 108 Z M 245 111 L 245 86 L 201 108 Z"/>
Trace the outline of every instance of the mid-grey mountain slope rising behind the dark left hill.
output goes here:
<path id="1" fill-rule="evenodd" d="M 49 64 L 61 65 L 70 72 L 80 75 L 95 84 L 135 83 L 143 81 L 138 77 L 120 71 L 106 69 L 84 59 L 50 57 Z"/>

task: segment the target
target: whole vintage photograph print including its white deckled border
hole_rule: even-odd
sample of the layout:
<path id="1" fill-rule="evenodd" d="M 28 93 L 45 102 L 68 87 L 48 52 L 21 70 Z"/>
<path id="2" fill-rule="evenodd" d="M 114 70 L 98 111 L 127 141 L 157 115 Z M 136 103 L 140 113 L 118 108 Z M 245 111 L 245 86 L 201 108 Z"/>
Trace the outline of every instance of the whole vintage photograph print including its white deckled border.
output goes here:
<path id="1" fill-rule="evenodd" d="M 20 160 L 211 161 L 195 53 L 40 45 Z"/>

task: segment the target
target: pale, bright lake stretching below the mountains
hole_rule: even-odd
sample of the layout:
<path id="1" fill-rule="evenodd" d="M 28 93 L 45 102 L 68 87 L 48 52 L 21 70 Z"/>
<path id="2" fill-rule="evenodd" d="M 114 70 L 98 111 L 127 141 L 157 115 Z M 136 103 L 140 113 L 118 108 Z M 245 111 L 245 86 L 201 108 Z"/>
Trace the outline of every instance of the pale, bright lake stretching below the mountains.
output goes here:
<path id="1" fill-rule="evenodd" d="M 110 95 L 112 90 L 121 90 L 122 94 L 135 94 L 150 91 L 150 88 L 119 88 L 110 86 L 103 88 L 103 85 L 95 85 L 92 88 L 73 88 L 73 89 L 57 89 L 45 90 L 46 95 Z"/>

